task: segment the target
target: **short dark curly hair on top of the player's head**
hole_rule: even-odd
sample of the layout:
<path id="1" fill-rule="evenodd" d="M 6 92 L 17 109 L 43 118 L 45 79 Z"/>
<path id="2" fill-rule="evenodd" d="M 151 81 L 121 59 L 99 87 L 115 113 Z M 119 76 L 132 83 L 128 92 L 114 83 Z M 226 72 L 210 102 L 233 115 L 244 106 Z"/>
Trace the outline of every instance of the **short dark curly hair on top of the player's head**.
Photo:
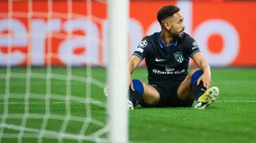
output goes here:
<path id="1" fill-rule="evenodd" d="M 172 17 L 173 14 L 179 12 L 179 8 L 174 5 L 166 5 L 161 8 L 157 13 L 157 20 L 161 24 L 162 20 L 165 20 L 167 17 Z"/>

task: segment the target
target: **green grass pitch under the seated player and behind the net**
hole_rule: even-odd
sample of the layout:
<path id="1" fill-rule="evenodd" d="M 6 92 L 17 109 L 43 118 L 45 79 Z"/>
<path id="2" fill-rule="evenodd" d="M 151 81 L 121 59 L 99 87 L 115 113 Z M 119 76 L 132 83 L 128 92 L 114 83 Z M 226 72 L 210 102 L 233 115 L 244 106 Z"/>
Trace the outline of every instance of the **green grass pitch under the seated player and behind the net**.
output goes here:
<path id="1" fill-rule="evenodd" d="M 105 102 L 102 87 L 105 83 L 106 70 L 93 68 L 91 72 L 91 77 L 100 82 L 99 86 L 102 87 L 84 82 L 85 77 L 88 77 L 90 73 L 85 68 L 73 68 L 74 79 L 70 84 L 66 84 L 69 83 L 67 74 L 70 73 L 66 68 L 53 68 L 51 72 L 52 77 L 47 79 L 49 75 L 46 74 L 46 68 L 32 68 L 32 77 L 26 78 L 30 76 L 26 75 L 26 68 L 12 68 L 10 80 L 6 80 L 6 68 L 0 69 L 2 120 L 0 138 L 3 135 L 2 143 L 19 140 L 53 143 L 58 141 L 58 137 L 61 140 L 60 134 L 55 134 L 61 129 L 67 133 L 63 136 L 63 142 L 73 143 L 78 142 L 72 138 L 77 138 L 75 135 L 80 133 L 83 125 L 86 129 L 83 133 L 85 135 L 94 134 L 105 126 L 106 112 L 103 107 L 105 104 L 97 106 L 95 103 Z M 255 73 L 256 69 L 212 69 L 212 85 L 218 86 L 220 95 L 207 110 L 138 107 L 130 111 L 129 138 L 131 142 L 256 142 Z M 144 68 L 137 69 L 133 77 L 147 82 L 147 72 Z M 4 94 L 8 92 L 9 99 L 7 100 Z M 45 94 L 50 95 L 49 106 L 47 102 L 45 103 Z M 68 97 L 65 96 L 66 94 L 72 94 L 70 109 L 67 108 L 67 104 L 63 103 Z M 85 97 L 94 99 L 93 103 L 79 103 Z M 4 104 L 4 102 L 9 104 Z M 29 104 L 23 104 L 24 102 Z M 71 119 L 67 123 L 67 128 L 63 129 L 63 124 L 65 124 L 63 121 L 68 111 L 70 111 Z M 4 112 L 8 112 L 9 116 L 5 123 L 2 123 Z M 24 114 L 25 112 L 30 113 L 28 117 L 24 116 L 28 115 Z M 46 118 L 45 112 L 50 113 L 51 116 L 43 127 L 46 121 L 43 120 Z M 3 125 L 5 125 L 4 129 Z M 22 132 L 20 126 L 34 130 Z M 38 131 L 40 129 L 42 131 L 43 128 L 46 130 L 46 137 L 38 140 Z M 73 136 L 67 136 L 68 134 L 73 134 Z M 100 137 L 106 138 L 106 136 L 102 134 Z M 84 142 L 95 141 L 84 140 Z"/>

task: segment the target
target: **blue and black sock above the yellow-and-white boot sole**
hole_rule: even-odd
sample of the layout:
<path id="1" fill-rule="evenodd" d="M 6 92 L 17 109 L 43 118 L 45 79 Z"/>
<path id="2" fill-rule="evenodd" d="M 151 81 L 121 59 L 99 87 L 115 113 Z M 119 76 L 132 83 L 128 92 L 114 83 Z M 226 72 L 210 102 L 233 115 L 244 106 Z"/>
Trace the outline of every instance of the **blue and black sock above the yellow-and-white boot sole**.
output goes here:
<path id="1" fill-rule="evenodd" d="M 202 82 L 197 85 L 197 80 L 199 77 L 201 77 L 202 74 L 203 72 L 198 70 L 191 77 L 192 94 L 194 95 L 195 101 L 197 101 L 201 95 L 207 91 L 207 88 L 204 87 Z"/>

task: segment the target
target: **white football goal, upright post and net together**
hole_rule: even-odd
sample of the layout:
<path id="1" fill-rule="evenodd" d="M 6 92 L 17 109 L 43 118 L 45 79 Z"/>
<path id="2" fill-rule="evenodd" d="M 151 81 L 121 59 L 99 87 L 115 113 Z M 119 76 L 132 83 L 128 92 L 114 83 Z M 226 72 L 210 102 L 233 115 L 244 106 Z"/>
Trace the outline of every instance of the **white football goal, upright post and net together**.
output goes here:
<path id="1" fill-rule="evenodd" d="M 127 141 L 127 47 L 117 46 L 127 45 L 128 7 L 0 2 L 1 143 Z"/>

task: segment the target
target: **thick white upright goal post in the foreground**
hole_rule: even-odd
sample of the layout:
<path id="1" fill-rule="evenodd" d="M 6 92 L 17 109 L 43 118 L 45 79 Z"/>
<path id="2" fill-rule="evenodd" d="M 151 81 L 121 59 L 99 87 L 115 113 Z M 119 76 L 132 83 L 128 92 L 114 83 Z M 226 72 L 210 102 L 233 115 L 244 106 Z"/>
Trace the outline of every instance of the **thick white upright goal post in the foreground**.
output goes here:
<path id="1" fill-rule="evenodd" d="M 108 139 L 128 141 L 128 19 L 129 0 L 109 0 Z"/>

